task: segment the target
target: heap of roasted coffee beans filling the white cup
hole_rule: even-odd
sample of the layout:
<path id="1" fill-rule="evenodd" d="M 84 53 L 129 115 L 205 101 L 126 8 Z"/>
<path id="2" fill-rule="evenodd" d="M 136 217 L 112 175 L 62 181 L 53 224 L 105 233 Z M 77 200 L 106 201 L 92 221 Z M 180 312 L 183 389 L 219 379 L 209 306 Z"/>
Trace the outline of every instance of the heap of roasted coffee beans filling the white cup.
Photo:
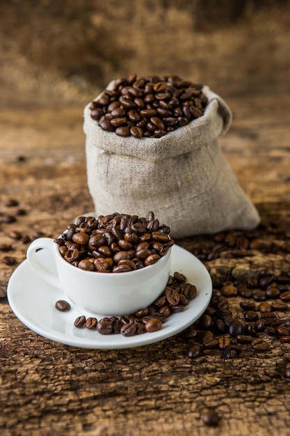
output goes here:
<path id="1" fill-rule="evenodd" d="M 170 227 L 160 224 L 154 212 L 146 217 L 113 213 L 79 217 L 69 224 L 58 244 L 61 256 L 81 270 L 130 272 L 153 265 L 174 244 Z"/>

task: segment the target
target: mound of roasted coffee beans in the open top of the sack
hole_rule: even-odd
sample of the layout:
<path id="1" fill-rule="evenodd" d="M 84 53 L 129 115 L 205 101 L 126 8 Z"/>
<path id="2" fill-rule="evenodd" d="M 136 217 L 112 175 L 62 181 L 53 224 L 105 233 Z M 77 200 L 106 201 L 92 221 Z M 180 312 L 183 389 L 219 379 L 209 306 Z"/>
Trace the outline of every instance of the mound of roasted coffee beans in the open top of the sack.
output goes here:
<path id="1" fill-rule="evenodd" d="M 91 102 L 90 116 L 120 137 L 160 138 L 202 116 L 206 105 L 201 84 L 174 75 L 131 74 Z"/>

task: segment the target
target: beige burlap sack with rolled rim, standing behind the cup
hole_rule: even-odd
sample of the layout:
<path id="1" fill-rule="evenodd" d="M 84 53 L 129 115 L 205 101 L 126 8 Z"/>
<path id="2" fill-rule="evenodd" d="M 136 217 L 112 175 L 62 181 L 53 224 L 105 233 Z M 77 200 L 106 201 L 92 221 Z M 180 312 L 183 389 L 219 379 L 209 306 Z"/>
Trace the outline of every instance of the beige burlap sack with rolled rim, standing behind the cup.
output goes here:
<path id="1" fill-rule="evenodd" d="M 231 111 L 207 86 L 203 92 L 204 115 L 159 139 L 105 132 L 90 118 L 90 104 L 85 107 L 88 188 L 96 215 L 145 216 L 152 210 L 173 238 L 259 224 L 218 146 Z"/>

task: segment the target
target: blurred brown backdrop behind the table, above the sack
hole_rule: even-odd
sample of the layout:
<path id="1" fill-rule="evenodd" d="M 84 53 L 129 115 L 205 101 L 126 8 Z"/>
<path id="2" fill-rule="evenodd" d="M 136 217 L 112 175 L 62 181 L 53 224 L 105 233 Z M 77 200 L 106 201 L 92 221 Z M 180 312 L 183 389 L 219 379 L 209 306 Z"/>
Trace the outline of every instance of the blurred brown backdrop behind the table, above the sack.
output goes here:
<path id="1" fill-rule="evenodd" d="M 1 107 L 83 105 L 129 72 L 286 93 L 289 45 L 289 0 L 0 0 Z"/>

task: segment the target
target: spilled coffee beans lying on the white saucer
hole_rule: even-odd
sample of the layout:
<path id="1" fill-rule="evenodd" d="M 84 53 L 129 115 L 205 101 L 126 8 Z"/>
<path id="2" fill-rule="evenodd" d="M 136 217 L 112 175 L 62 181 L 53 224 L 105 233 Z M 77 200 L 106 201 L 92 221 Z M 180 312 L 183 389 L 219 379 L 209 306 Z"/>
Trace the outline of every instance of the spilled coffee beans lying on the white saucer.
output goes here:
<path id="1" fill-rule="evenodd" d="M 86 316 L 81 315 L 74 321 L 74 326 L 97 330 L 100 334 L 122 334 L 122 336 L 127 337 L 146 332 L 157 332 L 172 313 L 182 312 L 184 307 L 195 298 L 197 292 L 196 286 L 188 283 L 184 274 L 175 272 L 170 275 L 161 296 L 150 306 L 120 318 L 112 316 L 97 320 L 95 317 L 86 318 Z M 56 309 L 69 311 L 70 304 L 59 300 L 56 302 Z"/>

